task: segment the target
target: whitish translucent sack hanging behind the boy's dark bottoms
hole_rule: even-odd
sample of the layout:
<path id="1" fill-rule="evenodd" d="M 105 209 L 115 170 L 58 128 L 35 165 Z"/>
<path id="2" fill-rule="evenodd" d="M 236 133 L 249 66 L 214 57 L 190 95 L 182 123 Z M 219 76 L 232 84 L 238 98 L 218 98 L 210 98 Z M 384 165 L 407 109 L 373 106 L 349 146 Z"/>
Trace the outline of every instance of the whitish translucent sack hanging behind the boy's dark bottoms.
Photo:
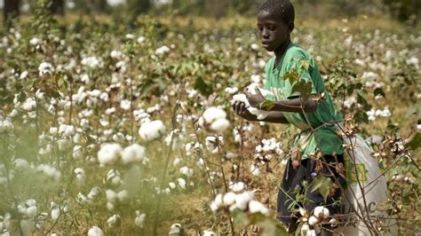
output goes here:
<path id="1" fill-rule="evenodd" d="M 358 135 L 351 139 L 344 138 L 344 144 L 353 147 L 345 153 L 348 184 L 343 202 L 346 209 L 345 214 L 353 213 L 353 209 L 356 209 L 360 215 L 369 215 L 372 222 L 382 218 L 382 225 L 390 231 L 387 235 L 397 235 L 395 220 L 390 219 L 391 217 L 385 212 L 376 210 L 378 203 L 387 201 L 387 186 L 385 177 L 380 176 L 382 173 L 377 160 L 370 155 L 373 150 Z M 357 179 L 360 180 L 360 185 Z M 363 195 L 365 195 L 365 201 Z M 353 218 L 358 220 L 356 216 Z M 336 232 L 342 232 L 344 235 L 370 235 L 369 229 L 363 221 L 358 220 L 354 225 L 355 227 L 353 225 L 341 227 Z"/>

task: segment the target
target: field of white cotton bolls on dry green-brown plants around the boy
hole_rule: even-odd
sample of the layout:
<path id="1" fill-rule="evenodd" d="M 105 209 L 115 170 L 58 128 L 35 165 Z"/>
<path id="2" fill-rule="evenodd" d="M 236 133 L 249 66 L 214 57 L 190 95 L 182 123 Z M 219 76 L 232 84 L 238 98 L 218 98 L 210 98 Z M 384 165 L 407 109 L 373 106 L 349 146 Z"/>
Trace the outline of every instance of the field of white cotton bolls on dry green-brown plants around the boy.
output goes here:
<path id="1" fill-rule="evenodd" d="M 285 233 L 276 195 L 297 130 L 231 110 L 251 83 L 263 87 L 273 56 L 254 19 L 157 22 L 36 19 L 2 33 L 0 232 Z M 317 60 L 347 131 L 376 151 L 389 190 L 377 207 L 414 233 L 421 34 L 394 24 L 302 20 L 292 36 Z M 302 235 L 341 224 L 323 207 L 297 216 Z"/>

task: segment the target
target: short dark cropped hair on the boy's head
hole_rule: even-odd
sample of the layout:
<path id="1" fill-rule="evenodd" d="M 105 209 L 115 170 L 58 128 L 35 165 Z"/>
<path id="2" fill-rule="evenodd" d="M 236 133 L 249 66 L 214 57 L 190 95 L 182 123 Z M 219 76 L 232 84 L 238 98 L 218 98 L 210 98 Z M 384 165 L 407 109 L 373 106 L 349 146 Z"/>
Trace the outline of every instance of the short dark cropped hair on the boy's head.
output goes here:
<path id="1" fill-rule="evenodd" d="M 285 24 L 294 23 L 295 11 L 290 0 L 266 0 L 260 6 L 259 12 L 269 12 L 275 18 L 283 20 Z"/>

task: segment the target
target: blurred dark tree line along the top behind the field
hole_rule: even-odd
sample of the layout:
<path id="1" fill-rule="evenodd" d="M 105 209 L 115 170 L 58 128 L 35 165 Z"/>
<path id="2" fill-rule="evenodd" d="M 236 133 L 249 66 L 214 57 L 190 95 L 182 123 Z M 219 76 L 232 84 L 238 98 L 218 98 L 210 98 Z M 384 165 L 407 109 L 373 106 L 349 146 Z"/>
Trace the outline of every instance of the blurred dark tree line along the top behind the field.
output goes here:
<path id="1" fill-rule="evenodd" d="M 10 27 L 12 20 L 20 15 L 22 4 L 28 4 L 30 11 L 36 5 L 48 5 L 52 14 L 64 15 L 70 12 L 92 14 L 120 14 L 124 12 L 128 23 L 140 14 L 153 13 L 176 15 L 201 15 L 215 18 L 230 14 L 254 15 L 263 0 L 4 0 L 4 26 Z M 299 12 L 306 15 L 354 16 L 360 13 L 389 12 L 393 18 L 417 23 L 421 15 L 419 0 L 293 0 Z M 45 4 L 47 3 L 47 4 Z"/>

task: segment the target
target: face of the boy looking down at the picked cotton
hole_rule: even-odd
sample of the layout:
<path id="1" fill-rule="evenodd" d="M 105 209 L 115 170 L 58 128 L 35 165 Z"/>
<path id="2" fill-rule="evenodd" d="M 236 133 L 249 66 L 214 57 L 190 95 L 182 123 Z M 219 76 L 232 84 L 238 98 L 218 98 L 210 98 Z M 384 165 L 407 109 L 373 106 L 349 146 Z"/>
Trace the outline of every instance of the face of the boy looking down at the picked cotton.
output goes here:
<path id="1" fill-rule="evenodd" d="M 293 27 L 292 27 L 293 28 Z M 290 37 L 291 27 L 276 19 L 269 12 L 258 12 L 258 32 L 266 51 L 276 51 Z"/>

